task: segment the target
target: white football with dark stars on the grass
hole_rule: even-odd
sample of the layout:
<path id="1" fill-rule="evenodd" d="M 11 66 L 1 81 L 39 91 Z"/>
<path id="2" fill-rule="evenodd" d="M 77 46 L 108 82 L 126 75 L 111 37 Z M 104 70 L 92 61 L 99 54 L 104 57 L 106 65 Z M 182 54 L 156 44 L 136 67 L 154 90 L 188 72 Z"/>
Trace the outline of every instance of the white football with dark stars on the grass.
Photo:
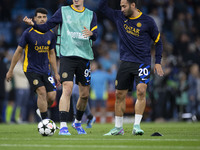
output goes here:
<path id="1" fill-rule="evenodd" d="M 52 136 L 56 132 L 56 124 L 51 119 L 44 119 L 38 123 L 38 132 L 42 136 Z"/>

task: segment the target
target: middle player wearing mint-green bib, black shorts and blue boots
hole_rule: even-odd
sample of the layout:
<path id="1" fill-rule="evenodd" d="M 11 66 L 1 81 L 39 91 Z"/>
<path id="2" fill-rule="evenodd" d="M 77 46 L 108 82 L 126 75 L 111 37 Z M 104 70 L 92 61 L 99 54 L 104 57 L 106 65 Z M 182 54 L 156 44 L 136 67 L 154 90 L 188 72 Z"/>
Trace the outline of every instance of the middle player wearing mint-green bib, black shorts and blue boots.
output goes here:
<path id="1" fill-rule="evenodd" d="M 59 135 L 71 135 L 67 127 L 70 109 L 73 78 L 79 86 L 79 99 L 76 105 L 75 129 L 78 134 L 87 134 L 81 126 L 90 89 L 90 60 L 94 59 L 92 41 L 97 38 L 96 14 L 83 6 L 84 0 L 73 0 L 71 6 L 62 6 L 44 25 L 36 25 L 25 17 L 24 22 L 33 28 L 47 32 L 59 25 L 57 36 L 57 56 L 60 57 L 62 95 L 59 103 Z"/>

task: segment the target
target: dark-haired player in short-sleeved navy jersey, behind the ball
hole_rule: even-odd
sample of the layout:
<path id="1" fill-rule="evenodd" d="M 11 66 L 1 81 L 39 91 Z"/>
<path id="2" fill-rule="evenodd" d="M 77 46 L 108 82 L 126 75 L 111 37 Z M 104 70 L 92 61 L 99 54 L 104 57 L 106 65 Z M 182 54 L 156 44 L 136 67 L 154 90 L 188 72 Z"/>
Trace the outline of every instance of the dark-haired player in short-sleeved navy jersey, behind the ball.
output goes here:
<path id="1" fill-rule="evenodd" d="M 35 23 L 44 24 L 47 21 L 47 13 L 46 9 L 37 8 L 34 16 Z M 23 55 L 24 49 L 23 71 L 32 89 L 38 95 L 38 113 L 40 113 L 42 119 L 48 118 L 48 105 L 51 106 L 56 98 L 56 85 L 50 72 L 50 65 L 54 71 L 57 84 L 60 84 L 60 76 L 56 67 L 55 45 L 56 38 L 53 31 L 41 33 L 32 27 L 26 29 L 6 75 L 7 81 L 10 81 L 13 76 L 13 69 Z"/>

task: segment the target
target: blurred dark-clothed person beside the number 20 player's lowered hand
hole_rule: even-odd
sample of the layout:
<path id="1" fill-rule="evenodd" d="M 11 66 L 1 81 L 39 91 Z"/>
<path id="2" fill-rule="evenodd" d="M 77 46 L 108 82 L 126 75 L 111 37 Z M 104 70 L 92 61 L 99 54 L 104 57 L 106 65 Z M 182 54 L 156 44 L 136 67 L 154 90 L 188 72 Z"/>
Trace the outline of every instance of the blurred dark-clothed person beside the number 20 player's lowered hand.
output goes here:
<path id="1" fill-rule="evenodd" d="M 177 73 L 178 68 L 173 66 L 170 59 L 163 59 L 162 66 L 164 76 L 162 78 L 154 78 L 153 97 L 154 97 L 154 112 L 153 119 L 155 121 L 166 121 L 174 118 L 175 98 L 177 95 L 178 83 Z"/>

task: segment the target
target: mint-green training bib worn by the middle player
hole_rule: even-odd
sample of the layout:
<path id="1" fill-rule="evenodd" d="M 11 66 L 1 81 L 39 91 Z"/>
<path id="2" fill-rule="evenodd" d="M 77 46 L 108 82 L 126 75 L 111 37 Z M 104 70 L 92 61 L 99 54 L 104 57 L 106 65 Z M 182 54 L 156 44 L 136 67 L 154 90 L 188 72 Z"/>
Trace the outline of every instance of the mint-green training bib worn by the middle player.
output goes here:
<path id="1" fill-rule="evenodd" d="M 92 41 L 84 37 L 84 26 L 90 30 L 94 13 L 86 8 L 78 11 L 73 6 L 61 7 L 62 26 L 58 28 L 56 51 L 60 56 L 78 56 L 92 60 Z"/>

